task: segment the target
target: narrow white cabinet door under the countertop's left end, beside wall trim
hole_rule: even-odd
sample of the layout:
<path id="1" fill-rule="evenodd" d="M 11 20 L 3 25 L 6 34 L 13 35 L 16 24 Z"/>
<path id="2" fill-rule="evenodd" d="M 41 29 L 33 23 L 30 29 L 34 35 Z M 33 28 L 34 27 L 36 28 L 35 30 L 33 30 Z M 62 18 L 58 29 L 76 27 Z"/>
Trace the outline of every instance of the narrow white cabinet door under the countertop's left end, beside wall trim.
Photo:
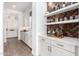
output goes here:
<path id="1" fill-rule="evenodd" d="M 40 55 L 49 56 L 50 55 L 50 44 L 45 42 L 46 39 L 41 39 L 40 41 Z"/>

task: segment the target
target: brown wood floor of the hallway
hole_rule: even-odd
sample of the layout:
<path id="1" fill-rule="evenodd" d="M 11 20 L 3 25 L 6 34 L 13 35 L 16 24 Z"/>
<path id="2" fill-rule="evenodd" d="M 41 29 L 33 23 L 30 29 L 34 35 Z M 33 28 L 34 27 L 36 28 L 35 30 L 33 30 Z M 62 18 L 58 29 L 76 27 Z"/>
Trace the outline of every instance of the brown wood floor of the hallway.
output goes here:
<path id="1" fill-rule="evenodd" d="M 9 38 L 4 43 L 4 56 L 32 56 L 31 49 L 17 38 Z"/>

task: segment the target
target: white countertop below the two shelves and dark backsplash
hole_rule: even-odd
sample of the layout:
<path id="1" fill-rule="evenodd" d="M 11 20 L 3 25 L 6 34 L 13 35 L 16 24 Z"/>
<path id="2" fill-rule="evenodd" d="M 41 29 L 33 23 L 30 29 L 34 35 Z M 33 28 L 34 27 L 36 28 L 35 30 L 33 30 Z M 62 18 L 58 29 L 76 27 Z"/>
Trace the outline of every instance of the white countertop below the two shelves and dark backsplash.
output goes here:
<path id="1" fill-rule="evenodd" d="M 46 36 L 46 35 L 39 35 L 39 36 L 46 38 L 46 39 L 60 41 L 63 43 L 74 45 L 74 46 L 79 46 L 79 39 L 77 39 L 77 38 L 71 38 L 71 37 L 57 38 L 57 37 L 50 37 L 50 36 Z"/>

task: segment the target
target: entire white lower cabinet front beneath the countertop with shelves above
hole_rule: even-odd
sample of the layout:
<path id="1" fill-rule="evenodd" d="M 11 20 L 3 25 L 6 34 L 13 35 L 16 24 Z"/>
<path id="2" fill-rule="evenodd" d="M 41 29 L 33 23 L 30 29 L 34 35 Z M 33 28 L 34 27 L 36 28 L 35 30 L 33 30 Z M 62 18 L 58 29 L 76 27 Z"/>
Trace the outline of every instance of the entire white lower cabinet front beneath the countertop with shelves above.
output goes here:
<path id="1" fill-rule="evenodd" d="M 40 38 L 40 56 L 75 56 L 75 46 Z M 72 49 L 72 50 L 71 50 Z"/>

